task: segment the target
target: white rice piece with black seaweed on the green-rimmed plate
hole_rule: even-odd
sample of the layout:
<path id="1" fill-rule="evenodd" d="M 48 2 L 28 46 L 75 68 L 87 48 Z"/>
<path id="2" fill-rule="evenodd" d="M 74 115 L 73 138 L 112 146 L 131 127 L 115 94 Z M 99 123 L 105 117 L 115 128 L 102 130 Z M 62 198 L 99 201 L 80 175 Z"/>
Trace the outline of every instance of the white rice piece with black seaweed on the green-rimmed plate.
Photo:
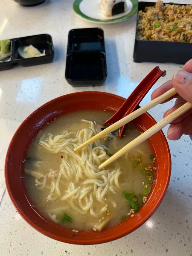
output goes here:
<path id="1" fill-rule="evenodd" d="M 125 12 L 126 9 L 125 0 L 101 0 L 101 14 L 103 17 L 112 17 Z"/>

